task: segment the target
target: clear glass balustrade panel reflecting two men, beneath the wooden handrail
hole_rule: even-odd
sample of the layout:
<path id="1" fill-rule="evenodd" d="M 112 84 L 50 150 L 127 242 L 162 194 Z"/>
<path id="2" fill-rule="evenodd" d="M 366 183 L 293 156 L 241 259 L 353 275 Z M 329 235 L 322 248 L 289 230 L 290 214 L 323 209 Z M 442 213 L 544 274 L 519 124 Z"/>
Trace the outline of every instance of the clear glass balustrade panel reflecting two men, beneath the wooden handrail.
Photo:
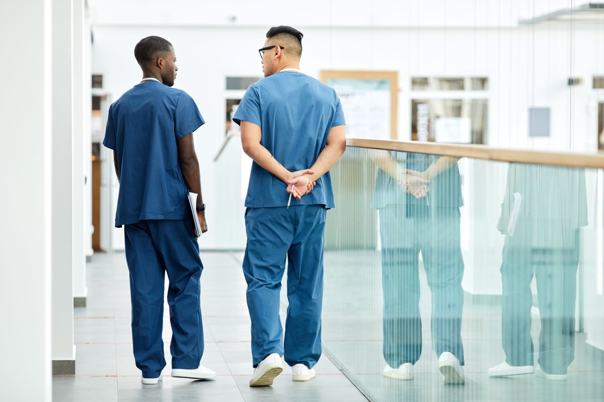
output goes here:
<path id="1" fill-rule="evenodd" d="M 349 146 L 332 177 L 323 348 L 370 400 L 604 399 L 602 169 Z"/>

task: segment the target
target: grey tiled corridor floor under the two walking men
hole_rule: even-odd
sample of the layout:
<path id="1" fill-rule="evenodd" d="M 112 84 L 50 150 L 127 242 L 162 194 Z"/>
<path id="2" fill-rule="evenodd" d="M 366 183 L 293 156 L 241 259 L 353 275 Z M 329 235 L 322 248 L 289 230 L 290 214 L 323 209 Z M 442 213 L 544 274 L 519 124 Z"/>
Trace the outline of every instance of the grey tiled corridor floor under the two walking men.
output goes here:
<path id="1" fill-rule="evenodd" d="M 272 387 L 249 387 L 253 369 L 242 253 L 201 256 L 201 363 L 216 371 L 216 380 L 170 377 L 172 331 L 165 303 L 164 378 L 156 385 L 141 384 L 132 355 L 126 258 L 123 253 L 95 254 L 88 264 L 87 306 L 74 309 L 76 374 L 53 376 L 53 401 L 367 401 L 325 354 L 315 366 L 314 380 L 292 381 L 291 369 L 284 364 Z"/>

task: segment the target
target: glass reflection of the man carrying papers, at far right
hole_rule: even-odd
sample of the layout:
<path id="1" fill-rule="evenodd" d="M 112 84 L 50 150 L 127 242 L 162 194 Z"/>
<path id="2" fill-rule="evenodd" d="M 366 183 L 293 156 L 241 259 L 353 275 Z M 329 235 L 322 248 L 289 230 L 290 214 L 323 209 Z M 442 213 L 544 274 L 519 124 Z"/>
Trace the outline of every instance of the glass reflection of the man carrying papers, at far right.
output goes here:
<path id="1" fill-rule="evenodd" d="M 532 374 L 565 380 L 574 359 L 579 230 L 587 225 L 585 171 L 510 164 L 498 230 L 506 236 L 501 277 L 506 361 L 492 377 Z M 535 368 L 530 335 L 535 276 L 541 331 Z"/>

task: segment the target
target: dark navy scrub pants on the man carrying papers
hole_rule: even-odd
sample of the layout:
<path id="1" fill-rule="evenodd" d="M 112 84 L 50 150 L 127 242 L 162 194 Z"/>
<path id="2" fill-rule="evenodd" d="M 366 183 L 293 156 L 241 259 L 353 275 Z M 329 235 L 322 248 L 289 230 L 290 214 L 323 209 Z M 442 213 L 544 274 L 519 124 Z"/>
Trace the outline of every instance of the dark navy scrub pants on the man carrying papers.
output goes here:
<path id="1" fill-rule="evenodd" d="M 165 367 L 162 321 L 164 273 L 172 325 L 172 368 L 196 369 L 204 352 L 199 306 L 203 270 L 193 219 L 149 220 L 124 225 L 130 271 L 132 344 L 143 377 L 156 378 Z"/>

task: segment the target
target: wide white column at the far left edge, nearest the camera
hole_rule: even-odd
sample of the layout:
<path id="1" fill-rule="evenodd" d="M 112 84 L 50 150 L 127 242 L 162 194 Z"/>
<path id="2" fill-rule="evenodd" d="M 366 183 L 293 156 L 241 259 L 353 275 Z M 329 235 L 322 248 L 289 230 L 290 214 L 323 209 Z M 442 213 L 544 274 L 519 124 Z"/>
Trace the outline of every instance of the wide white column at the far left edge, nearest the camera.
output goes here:
<path id="1" fill-rule="evenodd" d="M 51 35 L 50 0 L 0 2 L 3 401 L 52 399 Z"/>

